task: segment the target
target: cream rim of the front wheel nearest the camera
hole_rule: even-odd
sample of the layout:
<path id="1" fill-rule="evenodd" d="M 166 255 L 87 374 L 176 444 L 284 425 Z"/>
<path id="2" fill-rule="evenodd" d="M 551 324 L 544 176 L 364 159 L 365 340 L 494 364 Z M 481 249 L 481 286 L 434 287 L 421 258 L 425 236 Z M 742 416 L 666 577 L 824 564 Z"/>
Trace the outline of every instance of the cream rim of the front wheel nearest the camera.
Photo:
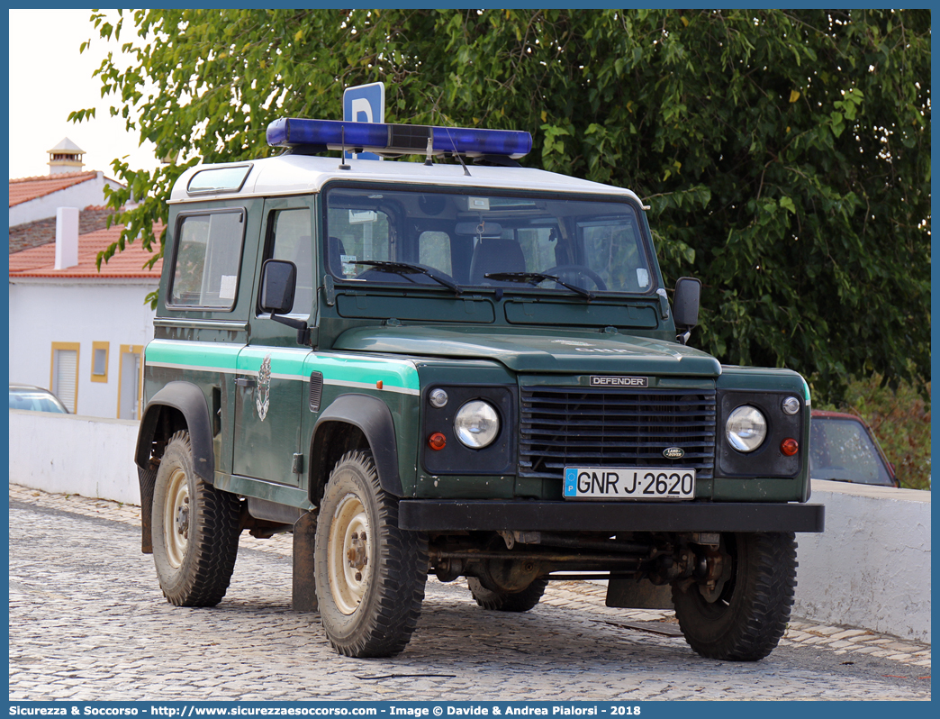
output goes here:
<path id="1" fill-rule="evenodd" d="M 371 541 L 366 508 L 354 494 L 347 494 L 333 513 L 326 559 L 330 593 L 344 615 L 352 615 L 366 595 Z"/>

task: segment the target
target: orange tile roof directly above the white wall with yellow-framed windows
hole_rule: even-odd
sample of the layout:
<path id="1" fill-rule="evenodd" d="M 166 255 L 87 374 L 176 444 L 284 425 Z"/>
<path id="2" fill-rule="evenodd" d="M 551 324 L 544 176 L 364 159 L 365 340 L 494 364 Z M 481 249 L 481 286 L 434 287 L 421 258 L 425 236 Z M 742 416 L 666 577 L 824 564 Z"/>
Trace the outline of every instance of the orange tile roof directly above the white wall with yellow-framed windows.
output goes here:
<path id="1" fill-rule="evenodd" d="M 144 269 L 153 255 L 136 240 L 126 246 L 123 252 L 116 252 L 107 264 L 102 263 L 99 272 L 95 263 L 98 253 L 118 240 L 123 225 L 115 225 L 107 230 L 88 232 L 78 237 L 78 264 L 67 269 L 55 269 L 55 242 L 39 248 L 24 249 L 9 256 L 9 276 L 11 278 L 147 278 L 160 280 L 163 260 L 158 260 L 152 269 Z M 153 233 L 158 238 L 164 226 L 155 224 Z"/>

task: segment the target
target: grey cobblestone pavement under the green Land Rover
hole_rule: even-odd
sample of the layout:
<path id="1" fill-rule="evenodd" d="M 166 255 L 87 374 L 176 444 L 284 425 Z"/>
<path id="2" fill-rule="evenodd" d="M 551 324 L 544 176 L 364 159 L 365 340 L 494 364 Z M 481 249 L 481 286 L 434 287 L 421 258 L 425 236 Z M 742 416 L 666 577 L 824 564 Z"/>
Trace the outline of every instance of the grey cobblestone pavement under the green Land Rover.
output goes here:
<path id="1" fill-rule="evenodd" d="M 9 487 L 10 700 L 930 699 L 930 647 L 793 621 L 758 663 L 698 657 L 671 613 L 609 609 L 604 587 L 551 583 L 524 615 L 428 583 L 395 659 L 329 647 L 290 609 L 290 536 L 244 535 L 226 599 L 172 607 L 139 508 Z"/>

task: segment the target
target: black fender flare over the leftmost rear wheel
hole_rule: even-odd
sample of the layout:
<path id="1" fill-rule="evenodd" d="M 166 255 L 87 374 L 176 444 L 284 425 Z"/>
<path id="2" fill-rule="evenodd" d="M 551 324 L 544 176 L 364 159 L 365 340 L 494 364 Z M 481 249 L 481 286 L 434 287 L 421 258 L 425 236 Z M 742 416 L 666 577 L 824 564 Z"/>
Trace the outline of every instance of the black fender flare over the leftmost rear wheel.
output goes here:
<path id="1" fill-rule="evenodd" d="M 214 484 L 215 452 L 212 447 L 209 405 L 206 403 L 206 395 L 191 382 L 167 382 L 163 389 L 150 398 L 137 431 L 137 451 L 134 457 L 137 466 L 142 470 L 149 468 L 150 449 L 160 428 L 164 407 L 173 407 L 182 414 L 193 446 L 196 474 L 204 482 Z"/>

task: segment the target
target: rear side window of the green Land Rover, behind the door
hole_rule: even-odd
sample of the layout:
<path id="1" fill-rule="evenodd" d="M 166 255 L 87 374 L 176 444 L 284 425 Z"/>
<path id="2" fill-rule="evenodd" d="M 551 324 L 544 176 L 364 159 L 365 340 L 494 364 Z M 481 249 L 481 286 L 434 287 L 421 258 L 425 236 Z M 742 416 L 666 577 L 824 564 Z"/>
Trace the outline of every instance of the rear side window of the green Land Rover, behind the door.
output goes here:
<path id="1" fill-rule="evenodd" d="M 242 262 L 242 210 L 180 218 L 167 304 L 231 310 Z"/>

